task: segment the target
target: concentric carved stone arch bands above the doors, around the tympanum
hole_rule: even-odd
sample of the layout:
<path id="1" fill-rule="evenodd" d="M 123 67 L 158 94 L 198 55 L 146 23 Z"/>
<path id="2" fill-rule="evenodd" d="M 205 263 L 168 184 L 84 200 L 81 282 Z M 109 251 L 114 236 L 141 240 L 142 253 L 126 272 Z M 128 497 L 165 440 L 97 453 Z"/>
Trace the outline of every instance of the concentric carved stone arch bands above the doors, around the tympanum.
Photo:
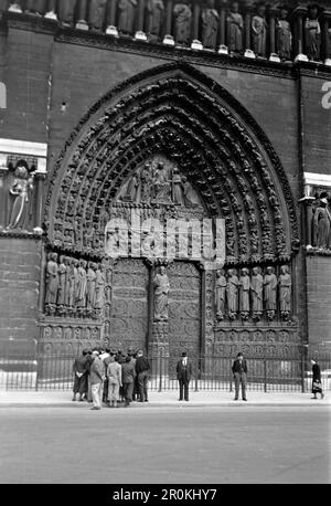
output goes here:
<path id="1" fill-rule="evenodd" d="M 50 172 L 50 244 L 103 257 L 108 209 L 153 154 L 175 162 L 207 215 L 225 218 L 227 264 L 289 262 L 298 251 L 292 193 L 270 141 L 227 91 L 182 63 L 124 82 L 79 122 Z"/>

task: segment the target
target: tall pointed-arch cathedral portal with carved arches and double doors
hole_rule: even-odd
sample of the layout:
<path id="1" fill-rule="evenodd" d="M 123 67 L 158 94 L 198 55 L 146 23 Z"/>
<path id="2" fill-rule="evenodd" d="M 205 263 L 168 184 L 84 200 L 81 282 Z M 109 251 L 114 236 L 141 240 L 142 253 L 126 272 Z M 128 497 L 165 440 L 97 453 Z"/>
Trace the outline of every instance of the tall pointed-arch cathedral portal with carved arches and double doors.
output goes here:
<path id="1" fill-rule="evenodd" d="M 224 219 L 226 270 L 239 278 L 243 268 L 250 276 L 257 267 L 265 276 L 270 267 L 277 277 L 286 265 L 292 283 L 287 309 L 277 295 L 275 309 L 265 299 L 257 315 L 249 298 L 249 307 L 241 306 L 237 293 L 236 307 L 229 309 L 227 301 L 218 318 L 216 273 L 201 272 L 199 263 L 186 259 L 167 265 L 169 318 L 156 320 L 156 266 L 141 251 L 138 257 L 121 255 L 111 266 L 106 254 L 107 223 L 114 218 L 128 222 L 132 210 L 161 222 L 169 217 Z M 293 320 L 289 328 L 288 321 L 297 312 L 299 232 L 285 171 L 247 110 L 190 65 L 147 71 L 88 112 L 51 172 L 44 217 L 46 254 L 68 259 L 62 262 L 65 286 L 67 273 L 79 267 L 87 280 L 97 273 L 103 293 L 89 308 L 86 298 L 77 307 L 58 305 L 58 299 L 46 304 L 44 342 L 65 335 L 76 349 L 84 346 L 84 336 L 86 342 L 106 339 L 109 346 L 145 345 L 171 354 L 188 347 L 206 354 L 233 336 L 248 348 L 253 339 L 265 345 L 270 331 L 279 344 L 285 333 L 288 342 L 298 342 L 298 325 Z"/>

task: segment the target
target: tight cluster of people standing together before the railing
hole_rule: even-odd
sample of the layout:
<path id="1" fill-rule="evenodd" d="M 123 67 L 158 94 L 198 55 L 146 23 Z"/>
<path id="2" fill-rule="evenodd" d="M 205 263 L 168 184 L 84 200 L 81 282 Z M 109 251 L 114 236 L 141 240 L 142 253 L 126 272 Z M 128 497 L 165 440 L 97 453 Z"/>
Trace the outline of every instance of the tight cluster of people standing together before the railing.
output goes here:
<path id="1" fill-rule="evenodd" d="M 93 402 L 92 410 L 103 403 L 117 408 L 119 401 L 128 408 L 134 400 L 148 402 L 150 363 L 142 350 L 111 352 L 109 349 L 84 349 L 73 365 L 74 396 L 79 401 Z"/>

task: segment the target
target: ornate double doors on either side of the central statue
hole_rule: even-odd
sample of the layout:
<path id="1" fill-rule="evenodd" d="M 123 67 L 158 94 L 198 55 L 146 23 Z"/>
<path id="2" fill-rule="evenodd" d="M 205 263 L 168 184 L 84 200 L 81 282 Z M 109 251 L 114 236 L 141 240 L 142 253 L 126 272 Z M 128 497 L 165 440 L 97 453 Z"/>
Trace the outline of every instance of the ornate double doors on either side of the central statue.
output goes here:
<path id="1" fill-rule="evenodd" d="M 174 261 L 167 274 L 170 357 L 183 350 L 196 355 L 201 350 L 201 273 L 194 263 Z M 110 310 L 104 325 L 111 348 L 149 351 L 154 275 L 154 267 L 140 259 L 121 259 L 113 266 Z"/>

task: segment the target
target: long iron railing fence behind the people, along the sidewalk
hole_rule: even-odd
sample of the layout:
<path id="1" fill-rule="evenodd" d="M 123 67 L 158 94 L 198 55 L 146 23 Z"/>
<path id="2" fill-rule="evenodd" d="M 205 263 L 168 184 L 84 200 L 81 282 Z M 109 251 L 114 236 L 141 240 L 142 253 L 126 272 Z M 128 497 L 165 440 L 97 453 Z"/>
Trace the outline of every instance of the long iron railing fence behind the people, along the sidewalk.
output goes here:
<path id="1" fill-rule="evenodd" d="M 0 390 L 72 390 L 75 356 L 8 354 L 0 357 Z M 197 356 L 192 361 L 191 389 L 232 391 L 232 365 L 235 357 Z M 149 357 L 149 388 L 154 391 L 177 390 L 178 357 Z M 331 390 L 331 355 L 319 358 L 322 387 Z M 311 389 L 309 357 L 247 358 L 247 389 L 264 392 L 307 392 Z"/>

